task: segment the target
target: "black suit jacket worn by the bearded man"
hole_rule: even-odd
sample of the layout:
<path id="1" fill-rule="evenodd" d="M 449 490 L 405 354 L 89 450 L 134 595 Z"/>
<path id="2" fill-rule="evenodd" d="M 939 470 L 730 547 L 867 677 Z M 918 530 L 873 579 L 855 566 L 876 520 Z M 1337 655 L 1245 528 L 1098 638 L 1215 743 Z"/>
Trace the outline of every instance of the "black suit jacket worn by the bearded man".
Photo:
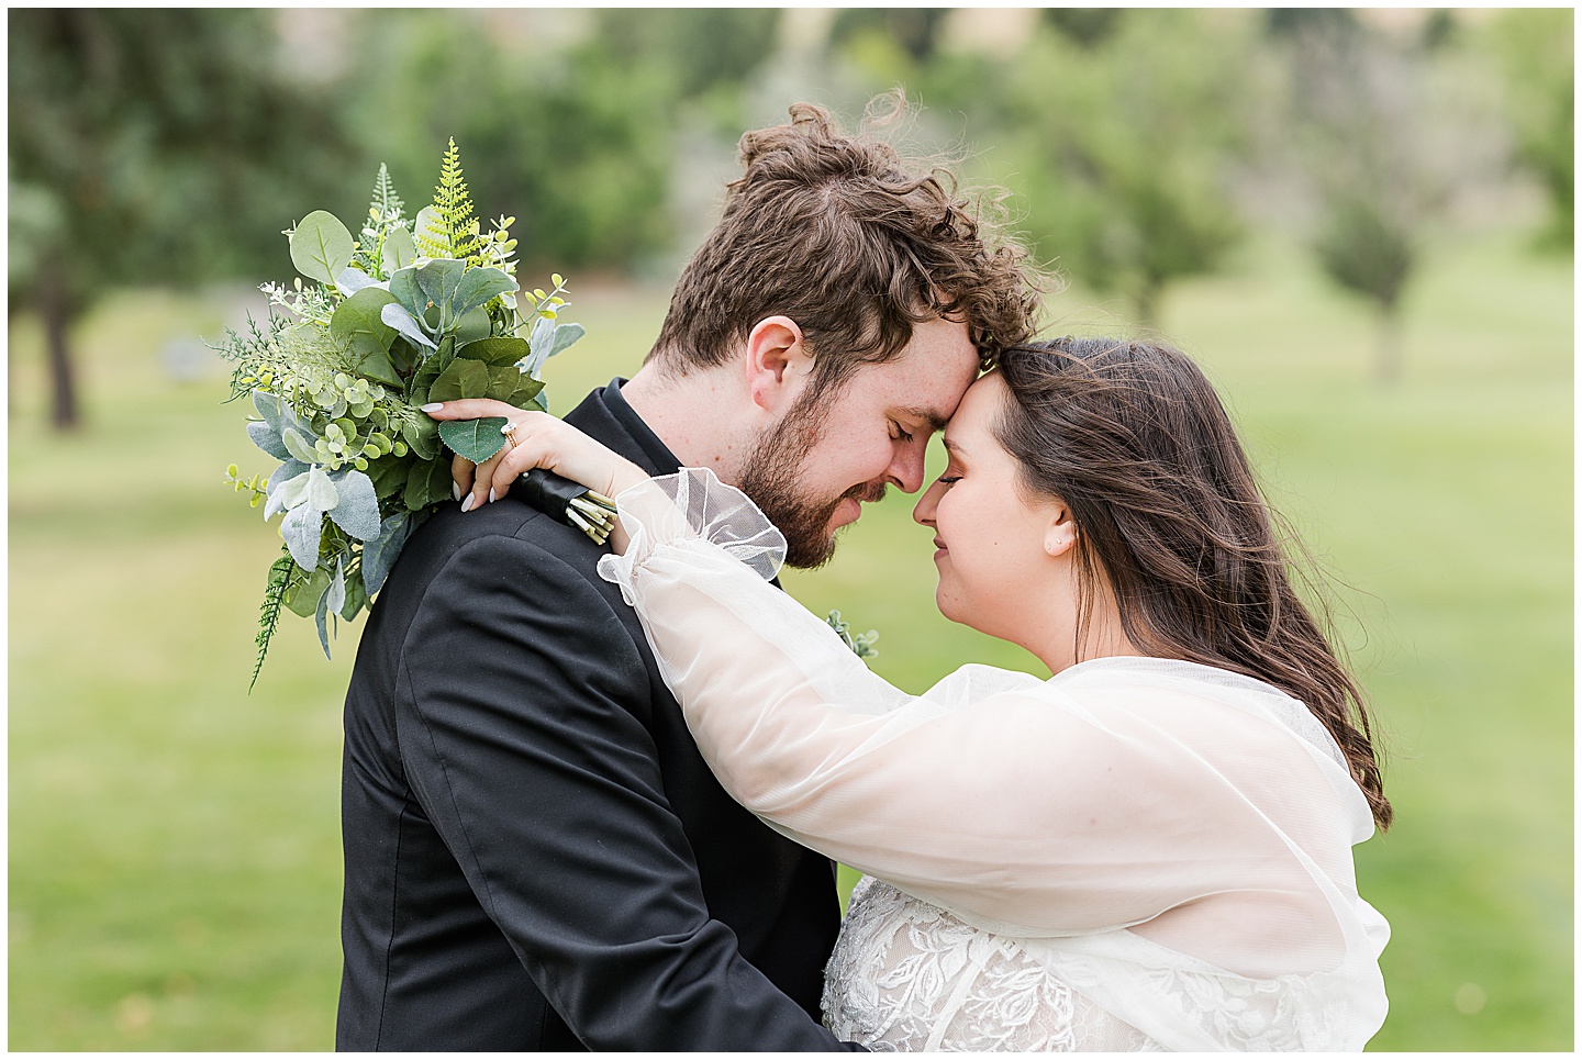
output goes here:
<path id="1" fill-rule="evenodd" d="M 568 421 L 650 473 L 620 396 Z M 725 794 L 604 549 L 506 497 L 402 549 L 346 693 L 337 1049 L 840 1049 L 831 862 Z"/>

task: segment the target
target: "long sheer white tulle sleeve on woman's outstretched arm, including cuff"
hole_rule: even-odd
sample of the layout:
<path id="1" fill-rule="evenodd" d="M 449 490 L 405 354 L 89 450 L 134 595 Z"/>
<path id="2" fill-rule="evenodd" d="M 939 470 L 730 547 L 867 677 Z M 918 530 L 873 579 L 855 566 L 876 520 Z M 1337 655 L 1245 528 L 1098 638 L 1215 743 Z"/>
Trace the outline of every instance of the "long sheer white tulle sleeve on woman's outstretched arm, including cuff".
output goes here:
<path id="1" fill-rule="evenodd" d="M 638 609 L 720 782 L 797 842 L 1025 937 L 1242 892 L 1300 907 L 1316 938 L 1354 897 L 1349 845 L 1372 824 L 1324 737 L 1191 685 L 1063 690 L 967 666 L 910 696 L 766 582 L 783 543 L 710 471 L 619 506 L 631 547 L 601 573 Z M 1308 813 L 1313 799 L 1343 812 Z M 1315 905 L 1319 891 L 1334 900 Z"/>

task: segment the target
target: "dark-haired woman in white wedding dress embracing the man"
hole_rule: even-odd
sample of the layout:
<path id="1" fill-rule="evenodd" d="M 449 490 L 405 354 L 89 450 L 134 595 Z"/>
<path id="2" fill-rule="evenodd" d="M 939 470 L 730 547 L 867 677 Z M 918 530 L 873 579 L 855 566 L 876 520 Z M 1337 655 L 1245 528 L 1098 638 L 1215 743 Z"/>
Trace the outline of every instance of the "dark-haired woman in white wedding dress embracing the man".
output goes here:
<path id="1" fill-rule="evenodd" d="M 971 386 L 914 513 L 937 601 L 1054 677 L 968 664 L 919 696 L 767 584 L 783 538 L 745 495 L 508 415 L 497 479 L 536 464 L 617 497 L 600 570 L 725 788 L 865 873 L 826 971 L 832 1032 L 1354 1051 L 1380 1028 L 1389 927 L 1351 857 L 1391 820 L 1368 714 L 1183 354 L 1060 339 Z"/>

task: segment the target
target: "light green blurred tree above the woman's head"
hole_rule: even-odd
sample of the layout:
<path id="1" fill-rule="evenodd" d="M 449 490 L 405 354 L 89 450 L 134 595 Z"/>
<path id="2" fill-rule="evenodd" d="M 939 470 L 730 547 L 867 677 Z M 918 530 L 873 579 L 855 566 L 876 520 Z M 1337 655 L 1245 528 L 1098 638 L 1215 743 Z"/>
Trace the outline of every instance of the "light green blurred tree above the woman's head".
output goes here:
<path id="1" fill-rule="evenodd" d="M 1098 24 L 1095 24 L 1098 25 Z M 957 71 L 952 104 L 1022 195 L 1043 256 L 1153 323 L 1166 286 L 1217 267 L 1240 233 L 1228 177 L 1245 147 L 1247 19 L 1126 9 L 1076 43 L 1047 22 L 1009 62 Z"/>

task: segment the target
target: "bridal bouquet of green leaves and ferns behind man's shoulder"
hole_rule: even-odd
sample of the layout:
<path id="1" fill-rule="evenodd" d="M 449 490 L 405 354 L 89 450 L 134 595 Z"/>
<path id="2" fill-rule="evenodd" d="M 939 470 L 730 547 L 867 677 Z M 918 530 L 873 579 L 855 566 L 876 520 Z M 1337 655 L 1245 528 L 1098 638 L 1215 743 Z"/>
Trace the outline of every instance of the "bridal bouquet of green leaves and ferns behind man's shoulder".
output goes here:
<path id="1" fill-rule="evenodd" d="M 285 233 L 302 275 L 263 285 L 267 320 L 228 329 L 215 348 L 234 365 L 231 399 L 258 413 L 248 437 L 280 460 L 267 478 L 242 479 L 234 464 L 226 478 L 264 519 L 283 516 L 253 683 L 283 609 L 315 619 L 329 657 L 329 623 L 369 606 L 411 532 L 451 498 L 446 448 L 483 462 L 505 445 L 503 418 L 437 424 L 424 403 L 494 397 L 547 411 L 538 372 L 584 329 L 558 320 L 560 275 L 551 291 L 517 291 L 514 220 L 481 231 L 456 141 L 413 218 L 381 165 L 361 236 L 324 210 L 304 217 Z M 603 541 L 603 500 L 579 495 L 563 517 Z"/>

